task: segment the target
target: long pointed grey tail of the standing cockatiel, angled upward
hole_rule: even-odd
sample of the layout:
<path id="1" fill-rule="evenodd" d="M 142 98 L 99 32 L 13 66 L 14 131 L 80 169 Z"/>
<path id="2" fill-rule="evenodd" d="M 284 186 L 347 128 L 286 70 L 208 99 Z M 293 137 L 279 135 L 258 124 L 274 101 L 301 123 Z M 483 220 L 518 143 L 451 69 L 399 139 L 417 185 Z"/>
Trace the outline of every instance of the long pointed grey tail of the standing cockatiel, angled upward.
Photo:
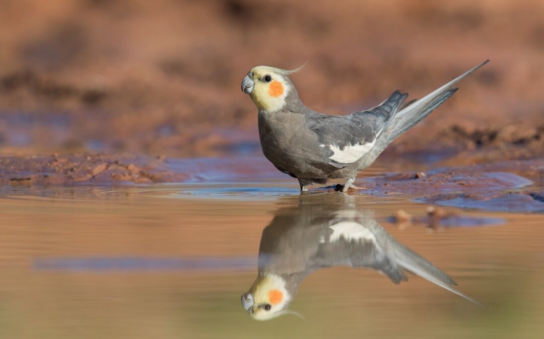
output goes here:
<path id="1" fill-rule="evenodd" d="M 472 68 L 472 70 L 469 70 L 461 76 L 453 79 L 446 85 L 429 93 L 423 98 L 404 106 L 403 109 L 397 112 L 397 115 L 394 117 L 394 121 L 389 125 L 384 133 L 387 135 L 387 144 L 391 143 L 398 136 L 404 134 L 418 122 L 422 121 L 423 118 L 430 114 L 430 112 L 434 111 L 444 101 L 451 97 L 453 93 L 455 93 L 457 89 L 453 87 L 453 85 L 458 83 L 459 80 L 468 76 L 468 74 L 471 74 L 475 70 L 478 70 L 478 68 L 481 66 L 487 64 L 487 62 L 489 62 L 489 60 L 482 62 L 480 65 Z"/>

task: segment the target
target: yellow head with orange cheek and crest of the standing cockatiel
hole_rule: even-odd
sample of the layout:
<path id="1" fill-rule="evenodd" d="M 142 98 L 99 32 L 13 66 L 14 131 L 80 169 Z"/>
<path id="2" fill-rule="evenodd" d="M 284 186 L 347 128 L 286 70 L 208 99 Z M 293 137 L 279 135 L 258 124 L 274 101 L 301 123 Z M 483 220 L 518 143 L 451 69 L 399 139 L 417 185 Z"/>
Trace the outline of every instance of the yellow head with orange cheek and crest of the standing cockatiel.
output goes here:
<path id="1" fill-rule="evenodd" d="M 254 67 L 242 80 L 242 91 L 249 94 L 259 111 L 279 111 L 286 105 L 289 93 L 296 94 L 288 76 L 302 70 L 302 67 L 304 65 L 289 71 L 269 66 Z"/>

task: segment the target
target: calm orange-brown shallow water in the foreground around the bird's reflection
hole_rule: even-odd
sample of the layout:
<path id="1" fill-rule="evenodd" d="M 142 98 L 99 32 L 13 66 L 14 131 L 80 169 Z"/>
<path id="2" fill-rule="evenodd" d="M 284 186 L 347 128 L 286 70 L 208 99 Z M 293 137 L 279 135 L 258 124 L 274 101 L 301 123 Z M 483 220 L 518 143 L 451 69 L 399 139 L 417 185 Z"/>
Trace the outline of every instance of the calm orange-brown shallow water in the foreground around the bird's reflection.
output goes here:
<path id="1" fill-rule="evenodd" d="M 9 189 L 0 200 L 0 337 L 541 338 L 542 214 L 448 208 L 461 213 L 430 230 L 428 205 L 407 197 L 299 196 L 292 182 L 274 181 Z M 423 223 L 393 223 L 400 209 Z M 346 210 L 485 307 L 410 273 L 395 285 L 335 259 L 298 286 L 289 309 L 304 319 L 251 319 L 240 296 L 256 278 L 263 229 L 275 230 L 263 243 L 293 242 L 283 228 L 302 232 L 300 246 L 275 254 L 304 266 L 308 225 L 331 225 L 327 216 Z"/>

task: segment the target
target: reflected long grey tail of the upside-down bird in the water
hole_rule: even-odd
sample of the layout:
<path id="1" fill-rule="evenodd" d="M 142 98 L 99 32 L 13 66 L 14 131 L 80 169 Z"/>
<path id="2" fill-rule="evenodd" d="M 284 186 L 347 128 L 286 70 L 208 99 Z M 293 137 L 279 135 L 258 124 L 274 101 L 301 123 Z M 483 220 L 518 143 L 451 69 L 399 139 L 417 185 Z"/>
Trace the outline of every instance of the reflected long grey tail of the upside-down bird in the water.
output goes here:
<path id="1" fill-rule="evenodd" d="M 419 277 L 429 280 L 430 282 L 433 282 L 434 284 L 442 288 L 446 288 L 446 290 L 450 292 L 458 294 L 458 296 L 461 296 L 475 304 L 485 307 L 484 305 L 480 304 L 466 294 L 456 290 L 453 287 L 457 285 L 456 282 L 448 274 L 442 272 L 440 268 L 432 265 L 431 262 L 423 258 L 421 255 L 413 252 L 409 248 L 406 248 L 397 242 L 394 243 L 393 248 L 397 265 L 406 269 L 406 271 L 417 274 L 419 275 Z"/>

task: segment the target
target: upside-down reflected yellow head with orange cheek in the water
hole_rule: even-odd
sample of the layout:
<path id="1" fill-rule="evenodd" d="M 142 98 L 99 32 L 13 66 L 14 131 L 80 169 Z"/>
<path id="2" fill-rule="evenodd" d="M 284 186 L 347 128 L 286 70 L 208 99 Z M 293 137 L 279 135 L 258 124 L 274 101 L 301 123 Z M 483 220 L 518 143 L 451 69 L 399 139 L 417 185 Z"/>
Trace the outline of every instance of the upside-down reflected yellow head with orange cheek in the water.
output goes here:
<path id="1" fill-rule="evenodd" d="M 291 296 L 285 285 L 285 280 L 279 275 L 259 275 L 249 292 L 242 295 L 242 306 L 256 320 L 268 320 L 289 313 L 287 306 Z"/>

